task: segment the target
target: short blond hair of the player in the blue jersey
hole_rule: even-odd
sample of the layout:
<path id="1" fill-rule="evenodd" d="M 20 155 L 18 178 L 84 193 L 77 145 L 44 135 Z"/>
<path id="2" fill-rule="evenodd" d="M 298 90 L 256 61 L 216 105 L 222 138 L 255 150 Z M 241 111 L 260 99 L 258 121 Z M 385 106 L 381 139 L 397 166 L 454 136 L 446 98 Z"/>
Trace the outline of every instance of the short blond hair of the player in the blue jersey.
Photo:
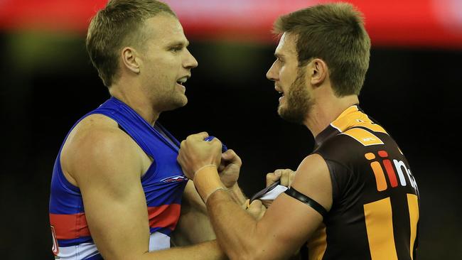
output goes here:
<path id="1" fill-rule="evenodd" d="M 127 45 L 142 45 L 144 21 L 159 13 L 176 17 L 170 7 L 160 1 L 111 0 L 92 18 L 87 52 L 106 87 L 117 80 L 119 51 Z"/>

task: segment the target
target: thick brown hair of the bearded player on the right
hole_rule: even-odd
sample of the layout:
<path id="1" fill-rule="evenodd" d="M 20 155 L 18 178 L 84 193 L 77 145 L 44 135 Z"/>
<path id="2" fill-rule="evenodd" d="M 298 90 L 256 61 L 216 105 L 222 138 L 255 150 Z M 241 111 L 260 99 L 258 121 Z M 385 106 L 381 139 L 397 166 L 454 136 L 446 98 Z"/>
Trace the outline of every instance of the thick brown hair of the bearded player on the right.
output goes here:
<path id="1" fill-rule="evenodd" d="M 279 17 L 274 33 L 293 33 L 299 67 L 321 58 L 335 94 L 360 94 L 369 67 L 370 38 L 362 13 L 351 4 L 319 4 Z"/>

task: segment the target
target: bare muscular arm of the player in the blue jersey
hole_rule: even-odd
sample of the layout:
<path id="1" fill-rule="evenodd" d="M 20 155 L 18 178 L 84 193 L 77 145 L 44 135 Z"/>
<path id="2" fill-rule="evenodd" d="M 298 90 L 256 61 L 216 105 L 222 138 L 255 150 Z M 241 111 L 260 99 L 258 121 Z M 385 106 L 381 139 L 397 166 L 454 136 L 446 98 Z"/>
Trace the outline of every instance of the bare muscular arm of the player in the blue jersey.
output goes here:
<path id="1" fill-rule="evenodd" d="M 148 252 L 140 157 L 127 135 L 105 126 L 75 136 L 63 153 L 63 168 L 80 188 L 88 227 L 104 259 L 223 258 L 216 242 Z"/>

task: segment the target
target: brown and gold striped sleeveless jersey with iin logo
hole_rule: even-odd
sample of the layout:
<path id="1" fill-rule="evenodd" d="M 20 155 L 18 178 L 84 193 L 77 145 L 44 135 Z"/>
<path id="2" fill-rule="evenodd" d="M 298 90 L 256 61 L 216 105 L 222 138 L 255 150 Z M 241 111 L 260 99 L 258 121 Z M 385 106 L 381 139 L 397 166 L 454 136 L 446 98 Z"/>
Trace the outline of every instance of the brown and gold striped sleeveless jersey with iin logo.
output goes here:
<path id="1" fill-rule="evenodd" d="M 333 205 L 307 242 L 308 259 L 413 259 L 419 191 L 397 143 L 357 106 L 316 136 Z"/>

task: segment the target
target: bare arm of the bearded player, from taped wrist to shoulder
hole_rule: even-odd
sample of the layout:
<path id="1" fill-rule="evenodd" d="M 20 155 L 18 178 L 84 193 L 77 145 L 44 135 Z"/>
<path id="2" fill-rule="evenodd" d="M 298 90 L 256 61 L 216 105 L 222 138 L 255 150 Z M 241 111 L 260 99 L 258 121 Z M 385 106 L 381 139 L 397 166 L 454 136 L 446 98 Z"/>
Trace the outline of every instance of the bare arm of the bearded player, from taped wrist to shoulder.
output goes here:
<path id="1" fill-rule="evenodd" d="M 292 187 L 330 210 L 331 178 L 321 156 L 313 154 L 303 160 Z M 207 208 L 217 240 L 231 259 L 289 258 L 322 222 L 316 210 L 285 193 L 259 221 L 245 214 L 222 190 L 208 197 Z"/>

